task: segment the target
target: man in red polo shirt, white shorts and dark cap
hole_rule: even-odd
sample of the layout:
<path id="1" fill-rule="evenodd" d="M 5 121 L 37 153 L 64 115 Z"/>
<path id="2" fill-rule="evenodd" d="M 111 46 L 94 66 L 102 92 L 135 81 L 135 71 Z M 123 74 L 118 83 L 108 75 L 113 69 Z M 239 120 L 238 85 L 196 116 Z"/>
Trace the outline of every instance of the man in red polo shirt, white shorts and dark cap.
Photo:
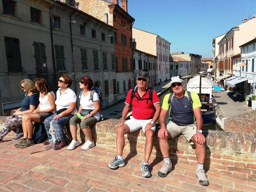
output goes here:
<path id="1" fill-rule="evenodd" d="M 134 97 L 132 101 L 131 95 L 132 89 L 127 94 L 121 123 L 118 125 L 116 130 L 117 155 L 115 159 L 108 164 L 108 167 L 111 169 L 116 169 L 117 167 L 123 167 L 125 165 L 123 158 L 124 134 L 142 128 L 146 136 L 146 144 L 144 161 L 141 164 L 141 171 L 143 177 L 150 177 L 151 173 L 148 170 L 148 160 L 153 149 L 153 136 L 156 131 L 155 122 L 159 117 L 161 106 L 155 90 L 152 92 L 152 101 L 149 99 L 147 71 L 140 71 L 139 76 L 137 77 L 137 86 L 134 88 Z M 132 116 L 129 120 L 124 122 L 131 106 Z"/>

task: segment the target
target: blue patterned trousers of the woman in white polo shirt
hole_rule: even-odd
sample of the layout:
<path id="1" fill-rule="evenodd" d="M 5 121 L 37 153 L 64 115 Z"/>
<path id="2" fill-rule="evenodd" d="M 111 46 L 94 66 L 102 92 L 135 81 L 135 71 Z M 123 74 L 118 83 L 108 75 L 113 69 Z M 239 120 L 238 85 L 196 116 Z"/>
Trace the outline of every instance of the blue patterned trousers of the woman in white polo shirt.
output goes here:
<path id="1" fill-rule="evenodd" d="M 56 114 L 57 113 L 53 114 L 52 116 L 49 116 L 48 118 L 46 118 L 44 120 L 44 128 L 45 128 L 45 130 L 46 130 L 46 132 L 48 134 L 49 130 L 50 130 L 50 123 L 52 121 L 52 127 L 53 127 L 53 130 L 55 132 L 56 140 L 61 140 L 61 141 L 65 142 L 62 126 L 66 125 L 66 124 L 69 124 L 69 120 L 74 115 L 73 114 L 69 114 L 68 116 L 60 117 L 57 120 L 52 120 L 53 117 L 56 116 Z"/>

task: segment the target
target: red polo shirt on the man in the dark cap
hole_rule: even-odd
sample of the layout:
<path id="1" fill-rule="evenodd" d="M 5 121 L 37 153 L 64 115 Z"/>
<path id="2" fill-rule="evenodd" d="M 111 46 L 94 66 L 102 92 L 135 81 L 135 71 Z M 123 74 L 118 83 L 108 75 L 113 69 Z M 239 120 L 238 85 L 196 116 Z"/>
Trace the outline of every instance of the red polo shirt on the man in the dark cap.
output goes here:
<path id="1" fill-rule="evenodd" d="M 134 88 L 135 92 L 134 95 L 136 95 L 138 98 L 140 98 L 140 95 L 138 94 L 137 90 L 137 86 Z M 129 90 L 126 100 L 125 100 L 125 104 L 126 105 L 131 105 L 131 95 L 132 95 L 132 89 Z M 135 119 L 151 119 L 154 114 L 155 114 L 155 110 L 153 105 L 160 103 L 160 100 L 156 94 L 156 91 L 153 90 L 152 93 L 153 96 L 153 103 L 151 102 L 151 100 L 138 100 L 135 96 L 132 99 L 132 116 Z M 146 89 L 145 94 L 142 96 L 141 99 L 144 98 L 149 98 L 149 89 Z M 148 101 L 148 104 L 147 104 Z"/>

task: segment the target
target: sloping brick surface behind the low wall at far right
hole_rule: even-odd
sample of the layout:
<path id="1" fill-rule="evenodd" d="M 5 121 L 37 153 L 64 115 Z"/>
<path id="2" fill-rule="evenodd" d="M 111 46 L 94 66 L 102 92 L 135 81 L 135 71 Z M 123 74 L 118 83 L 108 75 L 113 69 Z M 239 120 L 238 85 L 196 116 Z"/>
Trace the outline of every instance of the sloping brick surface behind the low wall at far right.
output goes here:
<path id="1" fill-rule="evenodd" d="M 256 134 L 256 110 L 224 120 L 224 131 Z"/>

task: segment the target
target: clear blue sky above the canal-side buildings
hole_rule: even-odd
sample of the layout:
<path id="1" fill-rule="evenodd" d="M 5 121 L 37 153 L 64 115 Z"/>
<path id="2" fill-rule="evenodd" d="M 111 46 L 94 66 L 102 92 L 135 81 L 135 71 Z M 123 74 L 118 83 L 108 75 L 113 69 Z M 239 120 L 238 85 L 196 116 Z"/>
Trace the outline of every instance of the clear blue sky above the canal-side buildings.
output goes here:
<path id="1" fill-rule="evenodd" d="M 212 39 L 256 14 L 256 0 L 128 0 L 128 13 L 133 27 L 172 43 L 171 52 L 212 57 Z"/>

